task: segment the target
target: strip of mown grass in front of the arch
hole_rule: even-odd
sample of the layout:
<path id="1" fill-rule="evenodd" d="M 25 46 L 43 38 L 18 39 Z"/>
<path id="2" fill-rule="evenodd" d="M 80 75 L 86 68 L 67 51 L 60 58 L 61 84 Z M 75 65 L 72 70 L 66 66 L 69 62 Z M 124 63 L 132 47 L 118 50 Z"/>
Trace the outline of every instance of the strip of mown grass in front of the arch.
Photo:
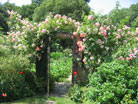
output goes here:
<path id="1" fill-rule="evenodd" d="M 1 103 L 1 104 L 47 104 L 46 100 L 55 101 L 56 104 L 78 104 L 66 97 L 47 97 L 47 96 L 34 96 L 31 98 L 25 98 L 15 102 Z"/>

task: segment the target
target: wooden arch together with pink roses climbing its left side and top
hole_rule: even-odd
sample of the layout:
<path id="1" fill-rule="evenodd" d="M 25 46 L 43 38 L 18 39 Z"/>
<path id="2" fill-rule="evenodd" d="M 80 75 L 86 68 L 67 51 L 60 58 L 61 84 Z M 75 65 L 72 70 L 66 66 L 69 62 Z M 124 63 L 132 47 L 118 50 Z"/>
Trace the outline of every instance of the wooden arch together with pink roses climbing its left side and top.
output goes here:
<path id="1" fill-rule="evenodd" d="M 10 14 L 10 25 L 15 26 L 11 28 L 9 38 L 13 40 L 15 34 L 22 41 L 16 42 L 16 45 L 23 44 L 25 50 L 30 53 L 30 60 L 36 63 L 36 74 L 43 78 L 46 92 L 49 94 L 50 81 L 50 42 L 51 38 L 64 38 L 73 40 L 73 66 L 72 66 L 72 85 L 75 83 L 81 84 L 85 75 L 83 62 L 83 42 L 82 40 L 87 36 L 86 33 L 78 33 L 80 23 L 72 20 L 67 16 L 50 14 L 45 21 L 38 23 L 31 23 L 26 19 L 22 19 L 19 14 L 13 11 L 8 11 Z M 19 31 L 16 31 L 19 30 Z M 14 34 L 14 35 L 13 35 Z M 12 41 L 11 40 L 11 41 Z M 22 43 L 21 43 L 22 42 Z"/>

